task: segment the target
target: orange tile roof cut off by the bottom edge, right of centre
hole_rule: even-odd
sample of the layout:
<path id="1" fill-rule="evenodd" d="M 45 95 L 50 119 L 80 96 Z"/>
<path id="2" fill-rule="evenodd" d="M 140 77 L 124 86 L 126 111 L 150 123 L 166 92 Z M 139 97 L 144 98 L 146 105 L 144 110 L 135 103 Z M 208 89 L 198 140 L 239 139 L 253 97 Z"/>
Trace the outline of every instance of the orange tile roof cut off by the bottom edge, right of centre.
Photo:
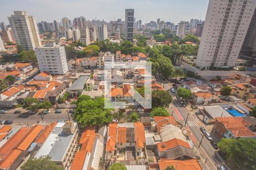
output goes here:
<path id="1" fill-rule="evenodd" d="M 173 165 L 176 170 L 201 170 L 202 169 L 196 159 L 188 159 L 188 160 L 160 159 L 159 160 L 160 170 L 164 170 L 171 165 Z"/>

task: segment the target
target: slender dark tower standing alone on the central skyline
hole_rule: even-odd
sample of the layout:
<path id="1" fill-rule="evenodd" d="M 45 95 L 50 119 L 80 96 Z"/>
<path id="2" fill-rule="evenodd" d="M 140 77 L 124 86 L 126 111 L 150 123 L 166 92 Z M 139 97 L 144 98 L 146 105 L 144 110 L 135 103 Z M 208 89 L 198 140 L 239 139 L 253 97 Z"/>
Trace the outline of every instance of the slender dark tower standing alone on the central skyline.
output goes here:
<path id="1" fill-rule="evenodd" d="M 133 42 L 134 9 L 125 10 L 125 40 Z"/>

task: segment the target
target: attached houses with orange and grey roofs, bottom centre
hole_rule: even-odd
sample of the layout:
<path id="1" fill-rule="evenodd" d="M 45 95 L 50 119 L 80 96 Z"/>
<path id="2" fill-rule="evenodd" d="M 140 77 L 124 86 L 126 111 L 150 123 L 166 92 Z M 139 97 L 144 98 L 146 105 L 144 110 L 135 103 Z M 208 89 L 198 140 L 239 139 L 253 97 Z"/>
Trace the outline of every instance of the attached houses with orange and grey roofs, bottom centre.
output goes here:
<path id="1" fill-rule="evenodd" d="M 127 122 L 123 124 L 109 124 L 106 143 L 106 158 L 116 158 L 116 162 L 125 163 L 126 160 L 146 163 L 145 132 L 141 122 Z M 132 152 L 136 154 L 133 155 Z M 116 153 L 116 155 L 115 155 Z"/>

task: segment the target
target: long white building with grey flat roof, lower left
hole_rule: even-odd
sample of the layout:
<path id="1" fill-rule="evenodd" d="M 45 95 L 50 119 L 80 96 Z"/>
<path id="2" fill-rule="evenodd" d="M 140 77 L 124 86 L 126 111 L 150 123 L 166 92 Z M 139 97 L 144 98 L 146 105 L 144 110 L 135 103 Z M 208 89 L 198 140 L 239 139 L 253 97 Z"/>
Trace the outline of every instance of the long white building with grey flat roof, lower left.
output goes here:
<path id="1" fill-rule="evenodd" d="M 51 156 L 51 160 L 64 169 L 71 168 L 73 155 L 77 146 L 78 127 L 73 121 L 57 122 L 46 141 L 35 154 L 40 156 Z"/>

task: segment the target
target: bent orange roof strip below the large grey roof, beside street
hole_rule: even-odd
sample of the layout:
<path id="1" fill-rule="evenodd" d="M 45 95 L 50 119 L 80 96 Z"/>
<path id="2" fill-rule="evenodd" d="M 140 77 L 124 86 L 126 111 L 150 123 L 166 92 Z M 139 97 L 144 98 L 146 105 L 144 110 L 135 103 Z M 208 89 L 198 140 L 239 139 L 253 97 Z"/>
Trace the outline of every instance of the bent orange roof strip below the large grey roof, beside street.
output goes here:
<path id="1" fill-rule="evenodd" d="M 158 146 L 158 150 L 160 152 L 170 150 L 171 148 L 175 148 L 177 146 L 183 146 L 189 149 L 191 148 L 188 142 L 182 141 L 177 138 L 171 139 L 170 141 L 166 141 L 166 142 L 156 143 L 156 145 Z"/>

